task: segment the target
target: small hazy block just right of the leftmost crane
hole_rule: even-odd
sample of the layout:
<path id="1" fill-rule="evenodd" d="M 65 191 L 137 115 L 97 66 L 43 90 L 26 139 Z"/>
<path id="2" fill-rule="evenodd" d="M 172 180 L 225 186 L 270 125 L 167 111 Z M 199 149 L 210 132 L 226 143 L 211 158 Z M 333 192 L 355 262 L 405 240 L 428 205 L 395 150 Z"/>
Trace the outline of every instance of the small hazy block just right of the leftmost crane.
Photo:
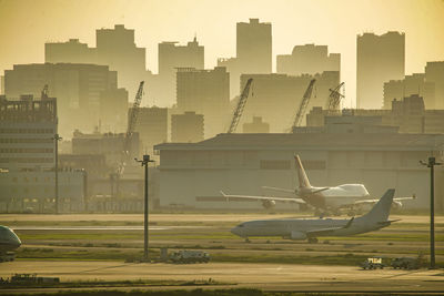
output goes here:
<path id="1" fill-rule="evenodd" d="M 153 145 L 164 143 L 168 140 L 168 109 L 140 108 L 134 131 L 139 133 L 142 150 L 152 153 Z"/>

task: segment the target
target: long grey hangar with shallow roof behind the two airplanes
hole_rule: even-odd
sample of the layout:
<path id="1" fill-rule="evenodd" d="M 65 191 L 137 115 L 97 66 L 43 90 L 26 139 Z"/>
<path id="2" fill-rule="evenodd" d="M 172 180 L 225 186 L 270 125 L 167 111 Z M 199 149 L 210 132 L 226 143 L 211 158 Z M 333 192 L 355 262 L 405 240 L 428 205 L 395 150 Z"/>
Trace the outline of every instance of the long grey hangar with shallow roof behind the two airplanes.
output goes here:
<path id="1" fill-rule="evenodd" d="M 219 134 L 198 143 L 163 143 L 160 154 L 161 207 L 260 210 L 258 201 L 226 202 L 226 194 L 264 195 L 261 186 L 297 186 L 293 154 L 300 154 L 312 185 L 362 183 L 372 197 L 387 188 L 416 200 L 406 208 L 430 207 L 432 155 L 442 160 L 444 135 L 400 133 Z M 444 170 L 435 167 L 436 211 L 444 210 Z M 282 193 L 274 193 L 282 196 Z M 297 210 L 278 203 L 276 208 Z"/>

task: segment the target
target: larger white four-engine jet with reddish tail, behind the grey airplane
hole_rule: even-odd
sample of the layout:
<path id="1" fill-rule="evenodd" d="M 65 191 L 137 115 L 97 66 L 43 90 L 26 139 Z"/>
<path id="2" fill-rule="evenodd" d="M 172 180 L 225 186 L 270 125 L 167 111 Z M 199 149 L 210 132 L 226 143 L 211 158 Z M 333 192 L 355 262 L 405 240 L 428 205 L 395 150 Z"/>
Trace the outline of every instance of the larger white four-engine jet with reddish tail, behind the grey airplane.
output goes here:
<path id="1" fill-rule="evenodd" d="M 292 193 L 296 197 L 275 197 L 275 196 L 255 196 L 255 195 L 229 195 L 221 191 L 221 194 L 228 200 L 256 200 L 261 201 L 263 207 L 272 208 L 276 202 L 290 202 L 310 205 L 315 208 L 316 216 L 325 214 L 340 215 L 342 210 L 347 210 L 350 216 L 361 212 L 365 204 L 373 205 L 379 202 L 375 198 L 367 198 L 370 194 L 363 184 L 342 184 L 334 187 L 315 187 L 310 184 L 305 170 L 299 155 L 294 155 L 295 167 L 297 170 L 299 187 L 295 190 L 278 188 L 263 186 L 263 188 Z M 402 206 L 401 201 L 413 200 L 415 196 L 393 198 L 392 206 Z"/>

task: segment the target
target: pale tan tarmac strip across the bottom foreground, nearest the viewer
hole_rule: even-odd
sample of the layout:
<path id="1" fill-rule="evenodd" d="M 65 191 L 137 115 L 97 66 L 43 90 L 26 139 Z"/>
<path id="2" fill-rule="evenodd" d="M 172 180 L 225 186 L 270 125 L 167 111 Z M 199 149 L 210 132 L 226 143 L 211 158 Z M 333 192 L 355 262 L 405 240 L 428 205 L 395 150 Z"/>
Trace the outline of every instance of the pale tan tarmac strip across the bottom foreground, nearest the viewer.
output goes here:
<path id="1" fill-rule="evenodd" d="M 214 280 L 264 290 L 385 290 L 444 292 L 444 272 L 363 271 L 351 266 L 297 264 L 209 263 L 209 264 L 130 264 L 121 262 L 18 261 L 3 263 L 0 276 L 37 273 L 72 280 Z M 220 286 L 219 288 L 223 288 Z"/>

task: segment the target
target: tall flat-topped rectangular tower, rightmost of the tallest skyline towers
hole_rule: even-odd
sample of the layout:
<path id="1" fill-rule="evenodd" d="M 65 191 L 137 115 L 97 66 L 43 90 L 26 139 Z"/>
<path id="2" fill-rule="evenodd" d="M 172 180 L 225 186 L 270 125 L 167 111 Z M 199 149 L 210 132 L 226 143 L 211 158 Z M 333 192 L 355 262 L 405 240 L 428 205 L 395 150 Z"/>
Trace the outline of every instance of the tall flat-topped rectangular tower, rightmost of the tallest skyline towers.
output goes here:
<path id="1" fill-rule="evenodd" d="M 405 34 L 357 35 L 356 105 L 359 109 L 383 106 L 384 82 L 402 80 L 405 74 Z"/>

